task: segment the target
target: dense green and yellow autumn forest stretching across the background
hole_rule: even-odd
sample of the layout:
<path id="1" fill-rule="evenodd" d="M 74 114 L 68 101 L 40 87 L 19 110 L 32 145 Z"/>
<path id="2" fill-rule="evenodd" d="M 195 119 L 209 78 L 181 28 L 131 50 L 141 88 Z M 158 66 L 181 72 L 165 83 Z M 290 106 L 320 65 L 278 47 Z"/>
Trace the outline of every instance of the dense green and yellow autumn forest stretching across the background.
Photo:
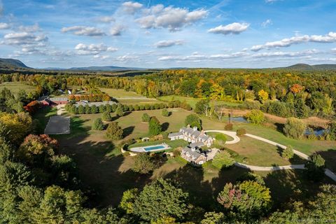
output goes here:
<path id="1" fill-rule="evenodd" d="M 22 75 L 0 76 L 0 82 L 20 81 L 36 86 L 36 94 L 61 94 L 73 86 L 110 87 L 146 97 L 176 94 L 241 103 L 241 109 L 261 109 L 281 117 L 334 118 L 336 71 L 288 70 L 164 70 L 134 77 Z M 96 92 L 92 92 L 96 93 Z M 34 94 L 30 93 L 30 98 Z"/>

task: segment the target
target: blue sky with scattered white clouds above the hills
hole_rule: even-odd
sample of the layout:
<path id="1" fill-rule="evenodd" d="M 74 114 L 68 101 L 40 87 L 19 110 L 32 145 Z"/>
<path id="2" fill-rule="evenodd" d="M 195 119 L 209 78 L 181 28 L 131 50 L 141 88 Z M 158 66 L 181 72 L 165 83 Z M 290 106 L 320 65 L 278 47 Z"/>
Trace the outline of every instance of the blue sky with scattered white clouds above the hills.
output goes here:
<path id="1" fill-rule="evenodd" d="M 336 64 L 335 0 L 0 0 L 0 57 L 36 68 Z"/>

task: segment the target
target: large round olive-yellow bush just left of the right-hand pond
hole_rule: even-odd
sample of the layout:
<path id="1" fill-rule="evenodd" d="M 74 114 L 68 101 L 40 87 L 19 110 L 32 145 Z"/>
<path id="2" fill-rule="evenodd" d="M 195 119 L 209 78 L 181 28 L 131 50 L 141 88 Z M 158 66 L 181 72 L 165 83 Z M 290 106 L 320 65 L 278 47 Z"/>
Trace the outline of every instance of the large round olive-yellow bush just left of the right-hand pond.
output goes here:
<path id="1" fill-rule="evenodd" d="M 306 124 L 304 124 L 302 120 L 297 118 L 288 118 L 285 126 L 283 127 L 283 133 L 286 137 L 301 139 L 306 128 Z"/>

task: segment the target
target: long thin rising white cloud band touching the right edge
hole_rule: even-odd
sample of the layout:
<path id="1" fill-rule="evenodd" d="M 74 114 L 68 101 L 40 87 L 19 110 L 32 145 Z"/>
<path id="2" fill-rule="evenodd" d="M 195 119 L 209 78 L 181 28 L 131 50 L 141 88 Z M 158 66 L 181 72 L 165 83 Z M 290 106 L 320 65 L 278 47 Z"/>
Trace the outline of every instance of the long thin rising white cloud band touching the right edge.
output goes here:
<path id="1" fill-rule="evenodd" d="M 307 43 L 307 42 L 333 43 L 333 42 L 336 42 L 336 33 L 329 32 L 329 34 L 326 34 L 324 36 L 321 36 L 321 35 L 293 36 L 291 38 L 283 38 L 281 41 L 267 42 L 263 45 L 253 45 L 251 50 L 258 51 L 258 50 L 269 49 L 269 48 L 284 48 L 284 47 L 289 47 L 290 45 L 293 45 L 293 44 Z"/>

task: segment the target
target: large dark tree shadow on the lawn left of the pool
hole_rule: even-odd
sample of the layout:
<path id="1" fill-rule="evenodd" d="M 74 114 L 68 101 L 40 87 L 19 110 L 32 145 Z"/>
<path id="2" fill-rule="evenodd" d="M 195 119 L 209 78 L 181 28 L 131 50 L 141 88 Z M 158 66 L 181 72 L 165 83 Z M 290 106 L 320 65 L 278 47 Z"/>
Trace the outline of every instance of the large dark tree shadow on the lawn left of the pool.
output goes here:
<path id="1" fill-rule="evenodd" d="M 150 176 L 132 172 L 134 158 L 119 155 L 120 148 L 111 141 L 94 141 L 94 134 L 90 135 L 90 127 L 85 127 L 84 123 L 85 120 L 75 116 L 71 118 L 71 134 L 56 136 L 60 152 L 76 162 L 82 183 L 80 188 L 89 197 L 90 206 L 117 206 L 125 190 L 143 188 Z M 127 130 L 131 132 L 130 128 Z M 106 153 L 114 156 L 108 157 Z"/>

